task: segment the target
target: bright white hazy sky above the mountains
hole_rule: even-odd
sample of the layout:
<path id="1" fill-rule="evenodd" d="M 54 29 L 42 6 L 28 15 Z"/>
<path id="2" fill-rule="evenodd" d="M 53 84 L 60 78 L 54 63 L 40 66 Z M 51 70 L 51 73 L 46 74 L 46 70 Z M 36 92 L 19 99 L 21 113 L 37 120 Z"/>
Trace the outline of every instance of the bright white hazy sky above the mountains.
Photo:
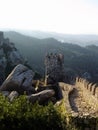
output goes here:
<path id="1" fill-rule="evenodd" d="M 98 34 L 98 0 L 0 0 L 0 28 Z"/>

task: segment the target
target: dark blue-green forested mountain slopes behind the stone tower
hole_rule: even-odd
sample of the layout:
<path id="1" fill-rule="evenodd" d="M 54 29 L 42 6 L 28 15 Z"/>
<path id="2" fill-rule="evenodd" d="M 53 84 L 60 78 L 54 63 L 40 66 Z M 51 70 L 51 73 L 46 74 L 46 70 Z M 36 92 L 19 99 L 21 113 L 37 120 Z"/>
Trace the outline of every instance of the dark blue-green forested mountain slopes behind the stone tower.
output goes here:
<path id="1" fill-rule="evenodd" d="M 91 74 L 93 79 L 98 79 L 98 46 L 89 45 L 82 47 L 76 44 L 62 43 L 54 38 L 38 39 L 17 32 L 5 32 L 11 42 L 27 58 L 28 62 L 39 73 L 45 72 L 45 55 L 47 53 L 64 54 L 65 73 L 68 75 Z"/>

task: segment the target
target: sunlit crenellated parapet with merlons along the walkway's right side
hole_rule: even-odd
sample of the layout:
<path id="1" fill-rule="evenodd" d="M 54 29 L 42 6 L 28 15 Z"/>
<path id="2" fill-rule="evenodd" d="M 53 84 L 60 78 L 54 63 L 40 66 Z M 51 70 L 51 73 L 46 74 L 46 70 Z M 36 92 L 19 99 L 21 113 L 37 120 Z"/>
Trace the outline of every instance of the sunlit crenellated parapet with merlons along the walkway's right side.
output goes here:
<path id="1" fill-rule="evenodd" d="M 76 78 L 76 86 L 82 90 L 85 101 L 98 110 L 98 85 L 88 82 L 83 78 Z"/>

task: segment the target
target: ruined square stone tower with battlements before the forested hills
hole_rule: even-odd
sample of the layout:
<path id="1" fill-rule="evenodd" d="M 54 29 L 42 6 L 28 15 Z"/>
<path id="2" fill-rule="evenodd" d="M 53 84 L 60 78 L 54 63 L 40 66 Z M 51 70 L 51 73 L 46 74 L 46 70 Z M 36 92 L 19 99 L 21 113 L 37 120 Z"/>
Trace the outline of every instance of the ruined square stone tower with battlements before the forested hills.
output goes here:
<path id="1" fill-rule="evenodd" d="M 45 57 L 45 78 L 47 83 L 64 81 L 64 56 L 62 54 L 48 54 Z"/>

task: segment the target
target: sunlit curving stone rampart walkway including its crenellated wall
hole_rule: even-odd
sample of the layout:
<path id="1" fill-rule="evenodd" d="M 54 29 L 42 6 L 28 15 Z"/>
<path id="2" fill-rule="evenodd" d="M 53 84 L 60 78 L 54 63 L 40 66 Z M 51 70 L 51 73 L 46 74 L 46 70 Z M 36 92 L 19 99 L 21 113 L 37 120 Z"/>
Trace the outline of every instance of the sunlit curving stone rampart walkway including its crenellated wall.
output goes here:
<path id="1" fill-rule="evenodd" d="M 84 79 L 75 85 L 59 83 L 65 100 L 65 107 L 73 116 L 98 116 L 97 84 Z"/>

